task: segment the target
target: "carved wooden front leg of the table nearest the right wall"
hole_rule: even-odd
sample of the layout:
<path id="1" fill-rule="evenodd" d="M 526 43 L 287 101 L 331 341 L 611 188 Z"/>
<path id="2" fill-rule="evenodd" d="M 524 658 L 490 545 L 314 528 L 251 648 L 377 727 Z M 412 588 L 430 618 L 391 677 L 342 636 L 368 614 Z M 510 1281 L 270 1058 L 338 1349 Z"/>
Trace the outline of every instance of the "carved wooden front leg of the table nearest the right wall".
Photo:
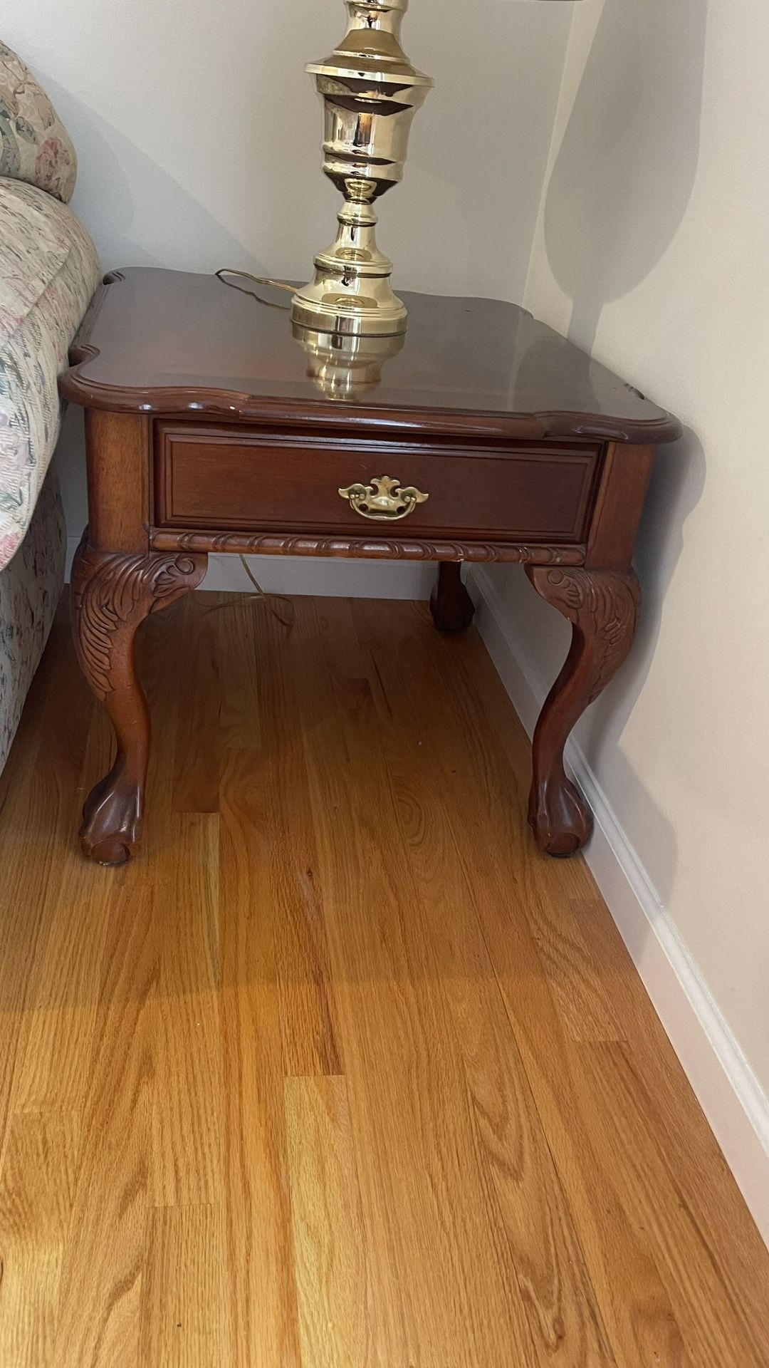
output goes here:
<path id="1" fill-rule="evenodd" d="M 564 746 L 586 707 L 606 688 L 632 646 L 640 588 L 632 570 L 547 569 L 527 565 L 538 594 L 572 622 L 565 665 L 534 733 L 528 819 L 549 855 L 573 855 L 592 830 L 590 810 L 564 772 Z"/>

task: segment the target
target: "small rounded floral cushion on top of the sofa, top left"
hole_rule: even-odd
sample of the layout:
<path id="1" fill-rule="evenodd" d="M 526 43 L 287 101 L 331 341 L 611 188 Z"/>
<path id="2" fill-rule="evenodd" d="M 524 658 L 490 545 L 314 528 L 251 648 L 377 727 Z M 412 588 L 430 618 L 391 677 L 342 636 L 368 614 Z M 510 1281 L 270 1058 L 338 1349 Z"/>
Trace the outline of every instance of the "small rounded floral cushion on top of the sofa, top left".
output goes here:
<path id="1" fill-rule="evenodd" d="M 29 67 L 0 42 L 0 176 L 68 201 L 77 157 L 64 124 Z"/>

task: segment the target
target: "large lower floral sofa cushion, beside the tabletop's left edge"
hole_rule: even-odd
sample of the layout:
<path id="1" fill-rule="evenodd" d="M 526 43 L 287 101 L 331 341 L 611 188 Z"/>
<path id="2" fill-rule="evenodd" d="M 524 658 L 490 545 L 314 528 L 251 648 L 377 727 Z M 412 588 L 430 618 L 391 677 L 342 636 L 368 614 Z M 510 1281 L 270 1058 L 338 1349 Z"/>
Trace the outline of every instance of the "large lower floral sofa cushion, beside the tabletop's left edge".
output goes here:
<path id="1" fill-rule="evenodd" d="M 0 178 L 0 569 L 29 527 L 56 446 L 57 375 L 99 285 L 71 209 Z"/>

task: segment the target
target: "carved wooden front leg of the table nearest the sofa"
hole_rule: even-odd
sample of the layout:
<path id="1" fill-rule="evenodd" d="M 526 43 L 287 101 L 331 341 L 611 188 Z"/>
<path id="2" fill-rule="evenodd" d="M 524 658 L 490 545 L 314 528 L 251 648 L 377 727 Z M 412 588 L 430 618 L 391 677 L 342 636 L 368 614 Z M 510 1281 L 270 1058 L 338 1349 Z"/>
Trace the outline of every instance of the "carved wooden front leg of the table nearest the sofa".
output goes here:
<path id="1" fill-rule="evenodd" d="M 141 837 L 149 714 L 134 663 L 140 622 L 200 584 L 208 557 L 94 551 L 81 542 L 71 583 L 81 668 L 115 728 L 118 751 L 83 807 L 81 841 L 100 865 L 122 865 Z"/>

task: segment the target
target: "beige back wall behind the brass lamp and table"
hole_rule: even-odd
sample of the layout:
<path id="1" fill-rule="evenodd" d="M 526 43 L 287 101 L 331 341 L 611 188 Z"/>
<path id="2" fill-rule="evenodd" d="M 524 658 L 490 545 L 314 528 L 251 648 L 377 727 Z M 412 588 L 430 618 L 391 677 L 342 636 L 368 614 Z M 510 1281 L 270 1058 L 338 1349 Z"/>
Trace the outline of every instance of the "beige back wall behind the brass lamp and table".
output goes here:
<path id="1" fill-rule="evenodd" d="M 404 183 L 380 205 L 395 287 L 523 295 L 571 12 L 484 0 L 479 23 L 464 0 L 413 0 L 405 47 L 436 88 L 415 122 Z M 4 0 L 0 36 L 75 141 L 74 208 L 105 269 L 235 265 L 307 278 L 339 201 L 320 171 L 322 111 L 304 63 L 343 25 L 341 0 Z M 75 412 L 57 461 L 77 540 Z M 382 591 L 402 580 L 417 592 L 421 572 L 382 569 Z M 276 590 L 297 584 L 281 562 L 260 575 Z M 345 576 L 352 588 L 354 566 Z"/>

